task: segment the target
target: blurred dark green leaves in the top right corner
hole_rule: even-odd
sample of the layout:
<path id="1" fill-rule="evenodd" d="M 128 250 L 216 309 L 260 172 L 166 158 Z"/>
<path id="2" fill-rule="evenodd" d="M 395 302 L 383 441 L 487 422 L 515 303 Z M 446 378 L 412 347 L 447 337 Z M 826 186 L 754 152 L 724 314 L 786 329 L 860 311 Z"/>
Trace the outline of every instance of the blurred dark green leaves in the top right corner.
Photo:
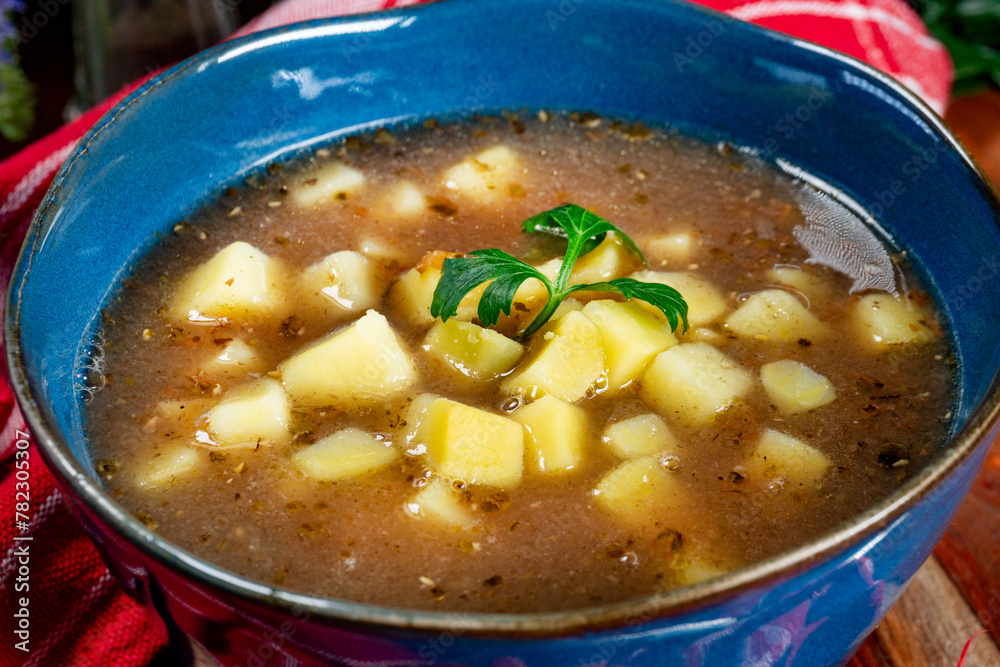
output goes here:
<path id="1" fill-rule="evenodd" d="M 955 63 L 952 95 L 1000 88 L 1000 1 L 910 0 Z"/>

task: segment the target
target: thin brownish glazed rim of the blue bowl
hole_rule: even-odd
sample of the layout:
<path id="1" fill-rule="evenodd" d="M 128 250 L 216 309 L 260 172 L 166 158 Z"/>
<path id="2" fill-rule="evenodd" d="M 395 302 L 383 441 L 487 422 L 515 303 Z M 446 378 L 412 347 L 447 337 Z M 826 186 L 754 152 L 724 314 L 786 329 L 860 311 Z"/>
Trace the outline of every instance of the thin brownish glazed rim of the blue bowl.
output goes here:
<path id="1" fill-rule="evenodd" d="M 823 535 L 799 546 L 784 551 L 763 561 L 734 570 L 718 578 L 692 586 L 685 586 L 668 592 L 653 593 L 620 602 L 553 612 L 513 613 L 466 613 L 424 611 L 392 608 L 342 599 L 326 598 L 295 591 L 280 586 L 270 586 L 245 578 L 235 572 L 216 566 L 174 545 L 147 529 L 123 507 L 118 505 L 100 485 L 83 469 L 69 446 L 50 428 L 39 403 L 39 395 L 28 380 L 24 366 L 20 340 L 20 294 L 24 282 L 29 279 L 31 262 L 37 243 L 46 226 L 49 211 L 60 203 L 61 187 L 73 171 L 76 160 L 86 153 L 89 144 L 99 139 L 101 133 L 114 124 L 128 107 L 159 86 L 182 76 L 188 70 L 216 59 L 218 55 L 234 48 L 246 48 L 257 44 L 266 46 L 271 41 L 285 41 L 288 35 L 301 33 L 303 39 L 310 36 L 324 37 L 346 33 L 352 23 L 387 19 L 393 16 L 409 16 L 414 13 L 433 15 L 442 6 L 464 4 L 465 10 L 472 9 L 474 0 L 438 0 L 421 5 L 400 7 L 390 10 L 354 14 L 279 26 L 265 31 L 222 42 L 202 51 L 187 60 L 156 75 L 131 92 L 105 113 L 80 139 L 73 152 L 56 174 L 49 191 L 35 212 L 24 245 L 21 248 L 14 273 L 8 288 L 4 308 L 4 344 L 10 372 L 11 386 L 18 405 L 34 437 L 38 451 L 56 475 L 60 486 L 67 485 L 77 499 L 89 511 L 113 528 L 144 556 L 159 565 L 199 586 L 219 589 L 228 595 L 250 600 L 266 607 L 288 611 L 296 615 L 303 611 L 310 617 L 327 622 L 342 622 L 355 626 L 405 629 L 420 633 L 454 631 L 460 627 L 469 637 L 531 638 L 554 637 L 578 634 L 593 630 L 626 630 L 636 623 L 691 612 L 719 602 L 723 598 L 733 598 L 753 588 L 774 585 L 792 577 L 809 565 L 837 554 L 846 552 L 866 535 L 881 530 L 910 509 L 915 503 L 933 493 L 934 488 L 954 470 L 973 456 L 990 429 L 1000 421 L 1000 372 L 994 375 L 983 399 L 972 409 L 962 427 L 942 446 L 942 450 L 916 476 L 889 494 L 876 505 L 838 524 Z M 706 18 L 722 21 L 736 21 L 731 16 L 699 5 L 691 5 L 677 0 L 664 0 L 663 4 L 675 5 L 684 11 L 703 14 Z M 744 23 L 741 26 L 750 32 L 758 32 L 765 38 L 788 46 L 812 51 L 838 61 L 842 66 L 855 68 L 876 79 L 881 85 L 891 89 L 911 105 L 921 120 L 931 127 L 958 156 L 978 179 L 978 185 L 996 213 L 1000 226 L 1000 195 L 985 175 L 982 168 L 968 154 L 961 143 L 937 114 L 915 93 L 889 75 L 851 56 L 828 47 L 814 44 L 779 33 L 761 26 Z M 259 48 L 259 46 L 258 46 Z M 678 629 L 680 630 L 680 629 Z M 670 629 L 664 630 L 669 632 Z"/>

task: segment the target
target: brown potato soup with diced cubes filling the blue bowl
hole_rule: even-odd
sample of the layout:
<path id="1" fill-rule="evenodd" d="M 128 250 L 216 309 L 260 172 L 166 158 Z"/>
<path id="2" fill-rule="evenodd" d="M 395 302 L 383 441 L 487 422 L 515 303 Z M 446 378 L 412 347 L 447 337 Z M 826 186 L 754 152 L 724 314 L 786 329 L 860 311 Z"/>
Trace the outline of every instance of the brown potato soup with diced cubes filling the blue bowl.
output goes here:
<path id="1" fill-rule="evenodd" d="M 550 297 L 529 277 L 482 326 L 511 267 L 558 281 L 567 240 L 521 231 L 546 211 L 613 225 L 568 285 L 667 285 L 686 313 L 598 285 L 525 336 Z M 476 283 L 456 267 L 481 249 L 521 264 Z M 581 608 L 774 556 L 920 470 L 955 393 L 905 252 L 752 152 L 593 114 L 272 165 L 178 221 L 97 338 L 94 460 L 148 527 L 269 584 L 436 610 Z"/>

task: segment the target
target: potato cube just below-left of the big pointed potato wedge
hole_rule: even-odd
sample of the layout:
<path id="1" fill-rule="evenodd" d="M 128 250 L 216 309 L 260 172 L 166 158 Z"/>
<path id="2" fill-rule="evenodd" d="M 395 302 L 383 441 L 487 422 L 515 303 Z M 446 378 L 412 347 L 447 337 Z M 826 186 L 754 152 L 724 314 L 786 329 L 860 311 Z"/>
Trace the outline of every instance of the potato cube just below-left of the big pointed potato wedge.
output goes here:
<path id="1" fill-rule="evenodd" d="M 285 442 L 290 423 L 285 390 L 271 378 L 237 388 L 208 411 L 208 431 L 222 446 Z"/>

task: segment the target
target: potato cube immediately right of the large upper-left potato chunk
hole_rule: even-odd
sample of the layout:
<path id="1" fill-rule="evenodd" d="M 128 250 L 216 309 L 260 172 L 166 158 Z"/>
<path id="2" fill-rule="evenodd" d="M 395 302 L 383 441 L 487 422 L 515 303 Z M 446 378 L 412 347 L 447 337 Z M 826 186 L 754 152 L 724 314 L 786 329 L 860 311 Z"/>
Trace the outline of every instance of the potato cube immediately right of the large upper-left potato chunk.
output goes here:
<path id="1" fill-rule="evenodd" d="M 371 260 L 353 250 L 327 255 L 302 274 L 302 288 L 333 314 L 360 313 L 382 300 L 382 281 Z"/>

